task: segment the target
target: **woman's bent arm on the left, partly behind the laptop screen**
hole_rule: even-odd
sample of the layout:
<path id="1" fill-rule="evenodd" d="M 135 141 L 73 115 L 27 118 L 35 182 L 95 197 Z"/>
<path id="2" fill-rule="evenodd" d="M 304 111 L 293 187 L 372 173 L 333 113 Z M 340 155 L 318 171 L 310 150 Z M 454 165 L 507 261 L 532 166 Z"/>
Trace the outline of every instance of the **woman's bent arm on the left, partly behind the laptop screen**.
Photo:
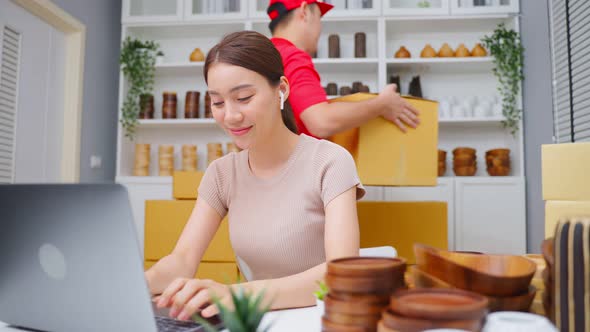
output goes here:
<path id="1" fill-rule="evenodd" d="M 160 294 L 176 278 L 192 278 L 209 242 L 219 228 L 221 216 L 197 198 L 193 212 L 172 253 L 145 272 L 151 294 Z"/>

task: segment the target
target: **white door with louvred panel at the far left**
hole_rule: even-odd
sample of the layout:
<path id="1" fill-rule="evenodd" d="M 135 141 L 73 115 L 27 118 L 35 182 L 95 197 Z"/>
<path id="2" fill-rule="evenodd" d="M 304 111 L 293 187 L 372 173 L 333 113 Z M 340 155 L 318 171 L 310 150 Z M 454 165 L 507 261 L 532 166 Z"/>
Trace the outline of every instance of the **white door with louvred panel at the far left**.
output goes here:
<path id="1" fill-rule="evenodd" d="M 59 182 L 65 36 L 0 0 L 0 183 Z"/>

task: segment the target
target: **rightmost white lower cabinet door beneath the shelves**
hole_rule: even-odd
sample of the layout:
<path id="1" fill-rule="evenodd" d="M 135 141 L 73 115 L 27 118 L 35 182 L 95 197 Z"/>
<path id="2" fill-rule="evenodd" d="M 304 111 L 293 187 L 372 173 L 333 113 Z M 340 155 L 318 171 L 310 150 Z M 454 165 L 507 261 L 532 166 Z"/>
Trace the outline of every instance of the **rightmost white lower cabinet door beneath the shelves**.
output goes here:
<path id="1" fill-rule="evenodd" d="M 524 178 L 455 178 L 457 250 L 526 252 Z"/>

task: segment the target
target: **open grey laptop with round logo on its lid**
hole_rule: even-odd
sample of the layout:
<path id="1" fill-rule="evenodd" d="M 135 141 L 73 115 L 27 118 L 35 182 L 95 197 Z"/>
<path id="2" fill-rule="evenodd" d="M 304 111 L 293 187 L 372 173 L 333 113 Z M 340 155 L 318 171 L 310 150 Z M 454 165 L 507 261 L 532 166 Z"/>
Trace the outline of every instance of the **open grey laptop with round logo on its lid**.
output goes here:
<path id="1" fill-rule="evenodd" d="M 205 331 L 154 312 L 125 187 L 0 185 L 0 321 L 60 332 Z M 222 327 L 218 317 L 211 323 Z"/>

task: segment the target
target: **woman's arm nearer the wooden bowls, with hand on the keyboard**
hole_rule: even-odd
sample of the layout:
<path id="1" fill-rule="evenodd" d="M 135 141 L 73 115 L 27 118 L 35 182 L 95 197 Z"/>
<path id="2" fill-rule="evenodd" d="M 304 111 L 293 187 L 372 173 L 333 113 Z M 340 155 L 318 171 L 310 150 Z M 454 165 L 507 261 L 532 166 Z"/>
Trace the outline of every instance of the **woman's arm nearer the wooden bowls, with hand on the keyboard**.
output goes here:
<path id="1" fill-rule="evenodd" d="M 356 211 L 356 186 L 338 195 L 326 206 L 325 250 L 326 260 L 339 257 L 358 256 L 359 226 Z M 317 282 L 324 278 L 326 263 L 307 271 L 284 278 L 257 280 L 237 285 L 223 285 L 212 280 L 179 278 L 170 284 L 158 301 L 159 307 L 172 307 L 170 316 L 188 319 L 200 308 L 212 303 L 216 296 L 226 307 L 232 306 L 229 287 L 243 287 L 258 294 L 264 291 L 263 302 L 270 303 L 271 309 L 285 309 L 311 306 L 315 303 L 313 292 Z M 207 306 L 203 317 L 218 313 L 215 305 Z"/>

